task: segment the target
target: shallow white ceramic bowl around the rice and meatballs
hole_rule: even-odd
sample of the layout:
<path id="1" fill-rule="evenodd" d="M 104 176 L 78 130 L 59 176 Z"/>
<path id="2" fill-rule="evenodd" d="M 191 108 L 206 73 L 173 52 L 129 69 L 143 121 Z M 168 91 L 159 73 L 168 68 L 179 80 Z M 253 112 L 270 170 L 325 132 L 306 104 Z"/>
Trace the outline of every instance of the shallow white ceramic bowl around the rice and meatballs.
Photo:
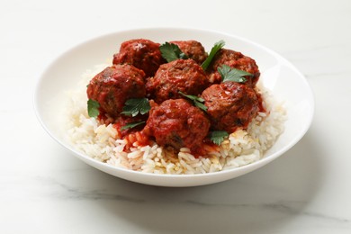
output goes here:
<path id="1" fill-rule="evenodd" d="M 58 118 L 60 115 L 59 100 L 63 99 L 64 91 L 72 89 L 86 69 L 103 64 L 107 59 L 112 60 L 113 53 L 120 48 L 122 41 L 138 38 L 160 43 L 169 40 L 199 40 L 208 51 L 214 42 L 225 40 L 225 48 L 235 49 L 254 58 L 260 68 L 261 81 L 272 90 L 277 100 L 285 102 L 288 113 L 284 133 L 275 146 L 266 152 L 264 158 L 253 164 L 204 175 L 154 175 L 130 171 L 98 162 L 72 148 L 65 141 L 63 133 L 60 132 L 62 123 Z M 286 59 L 257 43 L 218 31 L 155 28 L 112 33 L 88 40 L 68 50 L 57 58 L 40 77 L 34 94 L 34 107 L 40 123 L 49 132 L 49 135 L 88 165 L 108 174 L 142 184 L 194 186 L 217 183 L 247 174 L 284 154 L 302 139 L 309 129 L 313 117 L 314 100 L 305 77 Z"/>

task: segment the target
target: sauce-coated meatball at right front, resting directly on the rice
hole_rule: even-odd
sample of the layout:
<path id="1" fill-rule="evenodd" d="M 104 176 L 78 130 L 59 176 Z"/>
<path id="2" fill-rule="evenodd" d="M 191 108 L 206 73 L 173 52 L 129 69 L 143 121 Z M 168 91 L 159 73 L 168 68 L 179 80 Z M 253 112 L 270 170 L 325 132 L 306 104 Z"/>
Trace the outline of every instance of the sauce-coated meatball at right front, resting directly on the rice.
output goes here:
<path id="1" fill-rule="evenodd" d="M 213 130 L 246 129 L 259 109 L 257 94 L 252 87 L 236 82 L 211 85 L 202 93 Z"/>

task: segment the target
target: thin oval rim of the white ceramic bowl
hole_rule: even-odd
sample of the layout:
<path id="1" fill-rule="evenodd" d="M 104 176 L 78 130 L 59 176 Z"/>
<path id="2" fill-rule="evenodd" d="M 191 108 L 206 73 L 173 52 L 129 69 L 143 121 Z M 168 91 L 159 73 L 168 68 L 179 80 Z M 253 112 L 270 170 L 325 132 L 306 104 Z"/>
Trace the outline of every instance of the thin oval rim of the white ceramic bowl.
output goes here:
<path id="1" fill-rule="evenodd" d="M 109 38 L 109 37 L 116 36 L 116 35 L 121 34 L 121 33 L 135 32 L 135 31 L 160 31 L 160 30 L 161 31 L 165 31 L 165 30 L 167 30 L 167 31 L 168 30 L 172 30 L 172 31 L 199 31 L 202 33 L 206 32 L 206 33 L 211 33 L 211 34 L 216 34 L 216 35 L 224 35 L 224 36 L 229 37 L 229 38 L 235 38 L 236 40 L 241 40 L 241 41 L 244 41 L 245 43 L 255 45 L 257 48 L 265 50 L 269 54 L 274 55 L 275 58 L 279 58 L 279 60 L 284 61 L 284 65 L 291 68 L 296 75 L 298 75 L 302 78 L 304 85 L 308 88 L 309 93 L 311 95 L 309 98 L 309 101 L 311 102 L 310 103 L 311 104 L 311 110 L 310 110 L 311 114 L 309 116 L 309 119 L 306 121 L 306 123 L 304 125 L 304 129 L 301 130 L 300 134 L 296 135 L 294 137 L 294 139 L 289 142 L 289 144 L 284 145 L 283 148 L 281 148 L 280 150 L 278 150 L 277 152 L 275 152 L 273 154 L 270 154 L 268 157 L 260 158 L 256 162 L 253 162 L 253 163 L 245 165 L 245 166 L 239 166 L 239 167 L 231 168 L 228 170 L 222 170 L 219 172 L 206 173 L 206 174 L 193 174 L 193 175 L 152 174 L 152 173 L 147 173 L 147 172 L 133 171 L 133 170 L 118 167 L 118 166 L 112 166 L 112 165 L 109 165 L 107 163 L 100 162 L 100 161 L 94 159 L 93 157 L 89 157 L 89 156 L 85 155 L 84 153 L 76 150 L 76 148 L 73 148 L 73 147 L 69 146 L 67 143 L 62 142 L 61 139 L 58 139 L 58 137 L 56 137 L 51 132 L 51 130 L 49 130 L 47 124 L 42 120 L 42 117 L 40 115 L 40 104 L 39 104 L 40 103 L 40 100 L 39 100 L 39 98 L 40 98 L 40 95 L 39 95 L 40 94 L 40 85 L 42 84 L 43 80 L 45 79 L 45 77 L 46 77 L 45 75 L 49 72 L 50 69 L 55 67 L 56 62 L 58 62 L 59 59 L 64 58 L 65 56 L 67 56 L 67 54 L 71 53 L 74 49 L 79 49 L 81 47 L 84 47 L 86 44 L 92 43 L 95 40 L 102 40 L 103 38 Z M 282 55 L 275 52 L 273 49 L 269 49 L 266 46 L 263 46 L 262 44 L 257 43 L 256 41 L 248 40 L 244 37 L 241 37 L 241 36 L 238 36 L 235 34 L 230 34 L 230 33 L 223 32 L 223 31 L 214 31 L 214 30 L 208 30 L 208 29 L 189 28 L 189 27 L 141 27 L 141 28 L 134 28 L 134 29 L 128 29 L 128 30 L 113 31 L 110 33 L 106 33 L 106 34 L 102 34 L 102 35 L 90 38 L 88 40 L 84 40 L 80 43 L 77 43 L 76 45 L 70 47 L 69 49 L 67 49 L 64 52 L 62 52 L 61 54 L 59 54 L 58 57 L 52 59 L 52 61 L 49 63 L 49 65 L 47 67 L 45 67 L 44 71 L 40 74 L 39 78 L 35 82 L 32 103 L 33 103 L 34 112 L 37 116 L 37 119 L 40 121 L 40 125 L 43 127 L 43 129 L 45 131 L 47 131 L 47 133 L 49 133 L 49 136 L 52 139 L 55 139 L 58 142 L 58 144 L 61 145 L 63 148 L 65 148 L 69 153 L 74 153 L 74 155 L 76 157 L 78 157 L 79 159 L 83 159 L 83 161 L 85 161 L 85 163 L 87 163 L 88 165 L 94 166 L 94 164 L 97 164 L 98 167 L 97 166 L 94 166 L 94 167 L 98 168 L 99 170 L 102 170 L 101 167 L 106 167 L 108 170 L 121 171 L 121 173 L 128 173 L 128 174 L 132 174 L 132 175 L 135 174 L 135 175 L 142 175 L 142 176 L 155 177 L 155 178 L 175 178 L 175 179 L 179 179 L 179 180 L 186 180 L 189 178 L 197 178 L 197 177 L 204 178 L 207 176 L 213 177 L 213 176 L 220 176 L 220 175 L 229 175 L 229 174 L 232 174 L 234 171 L 235 172 L 247 171 L 247 173 L 248 173 L 248 172 L 251 172 L 251 171 L 253 171 L 261 166 L 265 166 L 267 163 L 273 161 L 275 158 L 284 155 L 284 153 L 286 151 L 288 151 L 290 148 L 293 148 L 293 146 L 303 138 L 303 136 L 306 134 L 306 132 L 311 127 L 311 122 L 313 120 L 313 116 L 314 116 L 314 112 L 315 112 L 315 99 L 314 99 L 314 94 L 313 94 L 313 90 L 311 88 L 311 85 L 309 84 L 307 78 L 305 76 L 303 76 L 302 72 L 299 69 L 297 69 L 297 67 L 295 67 L 293 65 L 293 63 L 290 62 L 288 59 L 284 58 Z M 106 172 L 105 170 L 103 170 L 103 171 Z M 109 172 L 106 172 L 106 173 L 111 174 Z M 247 173 L 244 173 L 244 174 L 247 174 Z M 244 174 L 240 174 L 240 175 L 244 175 Z M 111 174 L 111 175 L 113 175 L 113 174 Z M 114 176 L 122 178 L 119 175 L 114 175 Z M 237 177 L 237 176 L 234 176 L 234 177 Z M 128 179 L 128 180 L 130 180 L 130 179 Z M 220 180 L 220 181 L 224 181 L 224 180 Z M 137 181 L 135 181 L 135 182 L 137 182 Z M 142 182 L 139 182 L 139 183 L 147 184 L 147 183 L 142 183 Z M 216 183 L 216 182 L 213 182 L 213 183 Z M 211 183 L 211 184 L 213 184 L 213 183 Z M 157 184 L 154 184 L 154 185 L 157 185 Z M 171 184 L 170 186 L 174 186 L 174 185 Z"/>

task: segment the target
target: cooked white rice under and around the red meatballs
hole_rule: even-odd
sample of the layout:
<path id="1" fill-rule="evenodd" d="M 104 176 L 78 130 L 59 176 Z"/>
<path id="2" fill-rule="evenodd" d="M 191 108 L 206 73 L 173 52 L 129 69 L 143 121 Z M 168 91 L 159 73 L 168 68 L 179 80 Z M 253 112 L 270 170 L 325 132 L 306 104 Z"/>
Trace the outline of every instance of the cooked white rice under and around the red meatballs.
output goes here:
<path id="1" fill-rule="evenodd" d="M 86 85 L 108 65 L 87 70 L 76 90 L 67 92 L 67 139 L 89 157 L 112 166 L 156 174 L 200 174 L 245 166 L 262 158 L 284 131 L 286 114 L 282 103 L 259 83 L 266 112 L 258 112 L 247 130 L 237 130 L 220 147 L 205 145 L 207 155 L 194 157 L 188 148 L 181 148 L 177 156 L 153 143 L 138 146 L 134 142 L 124 151 L 128 139 L 121 139 L 112 124 L 99 124 L 86 111 Z"/>

